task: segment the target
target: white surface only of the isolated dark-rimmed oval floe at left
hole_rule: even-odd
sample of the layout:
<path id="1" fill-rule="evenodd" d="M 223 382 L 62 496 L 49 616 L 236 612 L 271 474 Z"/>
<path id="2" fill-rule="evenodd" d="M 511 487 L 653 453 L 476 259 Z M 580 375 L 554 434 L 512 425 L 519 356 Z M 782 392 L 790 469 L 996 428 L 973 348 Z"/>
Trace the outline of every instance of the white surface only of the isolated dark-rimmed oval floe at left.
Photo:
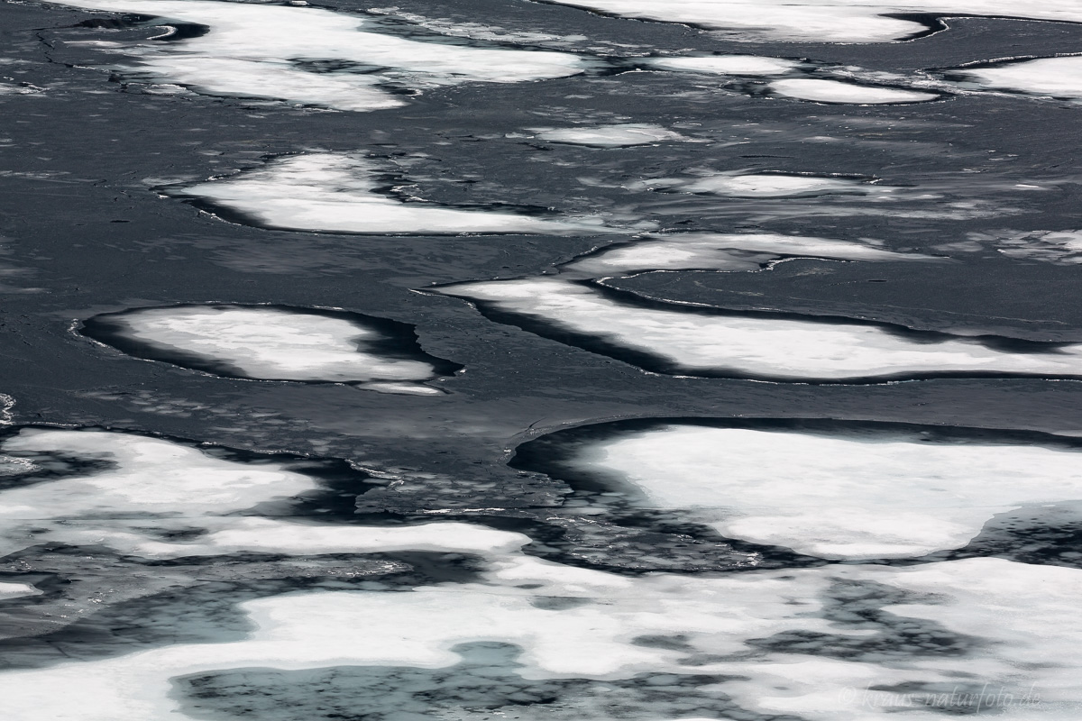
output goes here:
<path id="1" fill-rule="evenodd" d="M 227 363 L 247 377 L 367 383 L 427 380 L 435 369 L 369 350 L 383 335 L 344 318 L 280 308 L 181 306 L 114 317 L 126 337 L 159 351 Z"/>

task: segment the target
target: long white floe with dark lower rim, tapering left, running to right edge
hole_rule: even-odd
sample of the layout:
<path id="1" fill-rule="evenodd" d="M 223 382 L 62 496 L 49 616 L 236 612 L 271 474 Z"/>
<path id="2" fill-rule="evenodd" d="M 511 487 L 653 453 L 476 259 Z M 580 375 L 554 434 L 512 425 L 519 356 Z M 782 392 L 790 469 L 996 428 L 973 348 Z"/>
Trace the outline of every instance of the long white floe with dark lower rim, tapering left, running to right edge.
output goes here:
<path id="1" fill-rule="evenodd" d="M 648 370 L 771 380 L 845 382 L 941 374 L 1082 376 L 1082 344 L 1011 352 L 964 336 L 920 342 L 875 324 L 774 313 L 711 312 L 621 302 L 558 279 L 462 283 L 444 288 L 522 319 L 529 330 Z M 921 338 L 924 341 L 924 338 Z M 644 357 L 645 355 L 645 357 Z"/>

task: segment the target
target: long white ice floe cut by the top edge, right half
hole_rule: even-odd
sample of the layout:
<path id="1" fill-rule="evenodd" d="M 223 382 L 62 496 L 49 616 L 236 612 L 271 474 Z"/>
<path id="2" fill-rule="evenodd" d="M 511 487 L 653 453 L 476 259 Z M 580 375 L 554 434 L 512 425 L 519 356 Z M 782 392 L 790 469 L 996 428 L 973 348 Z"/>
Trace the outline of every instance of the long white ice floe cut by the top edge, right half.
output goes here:
<path id="1" fill-rule="evenodd" d="M 730 30 L 738 39 L 810 42 L 903 40 L 935 26 L 898 15 L 986 15 L 1082 23 L 1074 0 L 549 0 L 623 17 Z"/>

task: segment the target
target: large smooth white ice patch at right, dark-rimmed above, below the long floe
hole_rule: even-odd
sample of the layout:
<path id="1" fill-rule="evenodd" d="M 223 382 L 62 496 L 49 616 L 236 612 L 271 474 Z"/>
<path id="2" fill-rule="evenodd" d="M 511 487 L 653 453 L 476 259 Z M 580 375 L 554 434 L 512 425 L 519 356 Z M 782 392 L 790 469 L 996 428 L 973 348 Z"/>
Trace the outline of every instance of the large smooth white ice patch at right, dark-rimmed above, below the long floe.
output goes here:
<path id="1" fill-rule="evenodd" d="M 1082 452 L 672 425 L 584 449 L 645 504 L 723 535 L 826 558 L 961 548 L 995 513 L 1082 499 Z"/>

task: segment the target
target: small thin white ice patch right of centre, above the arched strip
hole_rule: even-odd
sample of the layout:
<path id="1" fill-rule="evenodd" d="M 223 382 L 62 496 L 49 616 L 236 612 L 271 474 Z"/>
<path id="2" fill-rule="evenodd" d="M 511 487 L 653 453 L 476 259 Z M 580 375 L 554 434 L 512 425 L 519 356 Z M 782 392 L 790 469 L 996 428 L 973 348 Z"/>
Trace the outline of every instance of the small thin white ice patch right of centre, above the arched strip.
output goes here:
<path id="1" fill-rule="evenodd" d="M 802 198 L 826 195 L 889 193 L 893 188 L 871 185 L 849 177 L 784 175 L 782 173 L 720 173 L 700 178 L 656 178 L 644 181 L 646 187 L 684 192 L 727 196 L 729 198 Z"/>

